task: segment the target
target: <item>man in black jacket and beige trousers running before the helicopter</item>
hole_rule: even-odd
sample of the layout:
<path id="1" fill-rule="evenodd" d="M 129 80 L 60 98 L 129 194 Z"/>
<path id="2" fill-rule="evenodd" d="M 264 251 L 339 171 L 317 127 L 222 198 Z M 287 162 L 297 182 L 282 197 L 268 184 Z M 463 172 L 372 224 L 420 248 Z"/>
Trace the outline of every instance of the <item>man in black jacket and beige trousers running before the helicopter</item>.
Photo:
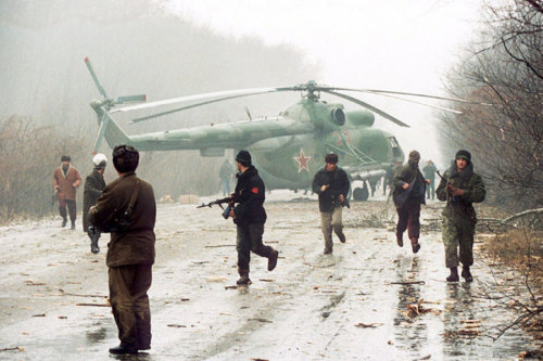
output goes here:
<path id="1" fill-rule="evenodd" d="M 318 194 L 320 210 L 320 230 L 325 236 L 325 255 L 333 248 L 332 230 L 341 243 L 345 243 L 343 234 L 342 209 L 348 205 L 349 178 L 338 167 L 338 155 L 330 153 L 325 157 L 325 167 L 317 171 L 313 179 L 313 192 Z"/>

